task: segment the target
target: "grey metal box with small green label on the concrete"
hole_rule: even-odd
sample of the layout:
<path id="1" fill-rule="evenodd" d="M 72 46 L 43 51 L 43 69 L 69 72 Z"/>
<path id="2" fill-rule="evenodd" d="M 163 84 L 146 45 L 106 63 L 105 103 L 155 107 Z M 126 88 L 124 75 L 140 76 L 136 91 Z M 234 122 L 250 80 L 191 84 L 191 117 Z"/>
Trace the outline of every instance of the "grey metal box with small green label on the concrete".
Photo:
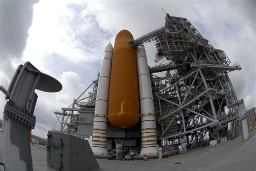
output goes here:
<path id="1" fill-rule="evenodd" d="M 87 140 L 49 131 L 47 164 L 58 170 L 93 170 L 99 168 Z"/>

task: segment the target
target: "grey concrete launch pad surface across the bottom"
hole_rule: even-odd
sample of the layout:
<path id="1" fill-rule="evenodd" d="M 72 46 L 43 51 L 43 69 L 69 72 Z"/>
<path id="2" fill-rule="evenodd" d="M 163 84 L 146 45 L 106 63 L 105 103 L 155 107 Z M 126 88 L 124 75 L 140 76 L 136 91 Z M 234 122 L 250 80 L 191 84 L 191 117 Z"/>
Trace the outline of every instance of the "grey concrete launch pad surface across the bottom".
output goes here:
<path id="1" fill-rule="evenodd" d="M 0 145 L 2 132 L 0 132 Z M 169 158 L 117 161 L 97 159 L 104 170 L 256 170 L 256 130 L 251 138 L 241 142 L 241 136 L 230 141 L 219 143 L 214 147 L 198 147 L 187 154 Z M 1 148 L 0 148 L 1 149 Z M 2 151 L 2 149 L 1 149 Z M 31 145 L 33 170 L 50 170 L 46 166 L 46 148 Z M 3 162 L 2 152 L 0 162 Z M 180 162 L 175 164 L 175 162 Z"/>

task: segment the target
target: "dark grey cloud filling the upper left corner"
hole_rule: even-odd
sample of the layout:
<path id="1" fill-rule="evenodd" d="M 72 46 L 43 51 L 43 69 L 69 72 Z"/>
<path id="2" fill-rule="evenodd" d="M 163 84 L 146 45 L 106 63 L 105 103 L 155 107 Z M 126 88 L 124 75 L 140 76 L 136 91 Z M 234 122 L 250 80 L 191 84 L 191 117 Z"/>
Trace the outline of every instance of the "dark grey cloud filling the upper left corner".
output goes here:
<path id="1" fill-rule="evenodd" d="M 35 3 L 37 1 L 0 1 L 0 85 L 6 89 L 21 64 Z M 2 114 L 6 102 L 2 92 L 0 98 Z"/>

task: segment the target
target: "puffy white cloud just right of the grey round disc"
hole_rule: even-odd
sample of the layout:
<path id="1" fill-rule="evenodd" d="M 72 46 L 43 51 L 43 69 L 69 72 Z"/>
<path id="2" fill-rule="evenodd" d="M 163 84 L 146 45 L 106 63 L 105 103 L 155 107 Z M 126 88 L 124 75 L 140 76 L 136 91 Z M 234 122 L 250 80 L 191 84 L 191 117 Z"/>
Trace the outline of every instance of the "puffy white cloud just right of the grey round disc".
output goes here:
<path id="1" fill-rule="evenodd" d="M 39 127 L 33 131 L 36 135 L 45 136 L 46 131 L 44 130 L 44 134 L 42 134 L 42 130 L 39 129 L 42 129 L 42 126 L 44 126 L 45 129 L 52 129 L 57 120 L 54 112 L 61 111 L 62 107 L 68 107 L 73 102 L 73 99 L 77 98 L 85 90 L 85 86 L 81 83 L 80 76 L 75 72 L 63 72 L 59 81 L 63 86 L 60 92 L 46 93 L 36 91 L 38 94 L 35 108 L 37 118 L 36 125 L 41 125 L 41 128 Z"/>

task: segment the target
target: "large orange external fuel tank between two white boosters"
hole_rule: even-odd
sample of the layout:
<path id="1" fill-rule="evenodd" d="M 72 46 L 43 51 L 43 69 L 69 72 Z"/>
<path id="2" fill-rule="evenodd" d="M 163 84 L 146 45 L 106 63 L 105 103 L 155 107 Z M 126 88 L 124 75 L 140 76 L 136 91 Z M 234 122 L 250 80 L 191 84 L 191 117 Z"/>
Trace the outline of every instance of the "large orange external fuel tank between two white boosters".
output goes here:
<path id="1" fill-rule="evenodd" d="M 131 128 L 139 121 L 137 62 L 131 40 L 127 30 L 120 31 L 114 40 L 107 118 L 117 128 Z"/>

